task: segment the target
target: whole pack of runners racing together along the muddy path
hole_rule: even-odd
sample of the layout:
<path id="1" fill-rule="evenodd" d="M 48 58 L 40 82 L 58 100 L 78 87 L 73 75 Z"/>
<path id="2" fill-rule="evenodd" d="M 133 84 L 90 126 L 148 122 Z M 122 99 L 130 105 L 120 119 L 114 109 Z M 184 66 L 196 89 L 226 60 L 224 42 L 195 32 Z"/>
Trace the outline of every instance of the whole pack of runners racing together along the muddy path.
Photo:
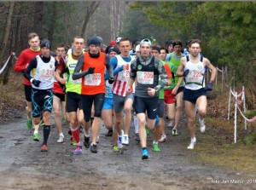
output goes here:
<path id="1" fill-rule="evenodd" d="M 148 38 L 131 42 L 117 37 L 104 52 L 102 37 L 92 36 L 85 44 L 83 37 L 76 36 L 68 50 L 58 44 L 55 56 L 49 40 L 40 41 L 36 33 L 28 35 L 28 43 L 30 48 L 20 53 L 15 72 L 23 72 L 25 77 L 26 125 L 29 130 L 33 127 L 34 141 L 39 141 L 39 125 L 44 127 L 42 152 L 48 151 L 52 109 L 59 132 L 57 142 L 64 141 L 62 123 L 66 119 L 76 145 L 73 154 L 82 153 L 81 127 L 84 147 L 98 152 L 101 120 L 107 135 L 113 136 L 113 152 L 119 152 L 129 145 L 133 116 L 135 140 L 141 143 L 142 158 L 148 159 L 148 132 L 154 131 L 153 151 L 160 152 L 158 142 L 166 141 L 165 110 L 172 135 L 178 135 L 183 101 L 191 137 L 188 149 L 196 142 L 195 105 L 201 132 L 205 131 L 207 90 L 212 90 L 216 69 L 201 55 L 198 39 L 187 42 L 187 55 L 181 53 L 179 40 L 168 40 L 166 47 L 160 47 Z M 206 68 L 212 70 L 207 85 Z"/>

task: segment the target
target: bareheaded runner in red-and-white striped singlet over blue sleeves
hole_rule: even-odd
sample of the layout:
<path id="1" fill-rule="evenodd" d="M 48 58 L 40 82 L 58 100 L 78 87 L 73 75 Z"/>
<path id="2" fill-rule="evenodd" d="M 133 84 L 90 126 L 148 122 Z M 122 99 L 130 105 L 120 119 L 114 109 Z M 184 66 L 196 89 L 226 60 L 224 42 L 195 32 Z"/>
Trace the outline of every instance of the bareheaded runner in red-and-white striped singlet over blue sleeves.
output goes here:
<path id="1" fill-rule="evenodd" d="M 113 130 L 113 151 L 119 151 L 122 144 L 129 145 L 129 130 L 131 125 L 131 111 L 134 101 L 133 94 L 126 95 L 128 80 L 130 78 L 131 61 L 130 55 L 131 41 L 127 37 L 119 40 L 120 54 L 110 60 L 113 67 L 113 112 L 115 116 Z M 125 112 L 125 117 L 124 117 Z M 124 132 L 122 131 L 124 118 Z"/>

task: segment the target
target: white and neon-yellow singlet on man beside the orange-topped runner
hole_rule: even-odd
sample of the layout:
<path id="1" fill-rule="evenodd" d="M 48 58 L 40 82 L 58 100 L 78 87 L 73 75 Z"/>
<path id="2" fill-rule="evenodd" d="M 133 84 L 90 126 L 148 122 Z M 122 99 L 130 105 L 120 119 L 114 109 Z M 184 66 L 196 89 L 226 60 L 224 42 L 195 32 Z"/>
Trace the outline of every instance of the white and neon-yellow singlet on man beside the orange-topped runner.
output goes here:
<path id="1" fill-rule="evenodd" d="M 74 72 L 75 67 L 77 66 L 78 60 L 74 60 L 72 53 L 67 55 L 67 69 L 69 71 L 69 76 L 67 76 L 66 73 L 66 78 L 68 78 L 67 83 L 66 83 L 66 92 L 74 92 L 79 95 L 81 95 L 81 81 L 82 79 L 79 78 L 77 80 L 72 79 L 72 75 Z"/>

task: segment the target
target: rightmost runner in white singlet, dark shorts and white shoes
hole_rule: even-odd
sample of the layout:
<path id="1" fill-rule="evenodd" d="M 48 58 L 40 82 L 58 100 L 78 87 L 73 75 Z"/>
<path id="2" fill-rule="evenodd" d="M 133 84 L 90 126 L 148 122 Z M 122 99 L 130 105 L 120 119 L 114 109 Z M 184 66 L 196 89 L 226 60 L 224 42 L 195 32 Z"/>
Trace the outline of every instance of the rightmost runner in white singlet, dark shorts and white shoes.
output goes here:
<path id="1" fill-rule="evenodd" d="M 185 89 L 183 100 L 188 116 L 188 127 L 190 131 L 191 141 L 188 149 L 194 149 L 195 138 L 195 105 L 198 107 L 200 117 L 201 133 L 206 130 L 205 117 L 207 114 L 207 90 L 212 90 L 213 81 L 216 77 L 216 68 L 212 66 L 210 60 L 200 55 L 201 41 L 199 39 L 191 40 L 190 55 L 183 57 L 180 66 L 177 68 L 177 76 L 184 77 Z M 212 70 L 212 75 L 205 85 L 205 70 Z"/>

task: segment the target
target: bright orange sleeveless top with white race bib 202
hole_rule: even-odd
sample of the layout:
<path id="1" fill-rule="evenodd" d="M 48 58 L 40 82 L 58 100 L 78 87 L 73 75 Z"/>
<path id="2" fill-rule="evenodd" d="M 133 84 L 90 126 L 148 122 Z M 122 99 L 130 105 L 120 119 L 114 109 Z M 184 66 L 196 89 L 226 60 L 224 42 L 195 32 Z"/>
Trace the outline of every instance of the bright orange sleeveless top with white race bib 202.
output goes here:
<path id="1" fill-rule="evenodd" d="M 93 74 L 88 74 L 82 78 L 82 95 L 96 95 L 105 93 L 104 72 L 105 54 L 100 52 L 97 58 L 91 58 L 88 52 L 84 53 L 84 66 L 82 72 L 90 67 L 95 67 Z"/>

